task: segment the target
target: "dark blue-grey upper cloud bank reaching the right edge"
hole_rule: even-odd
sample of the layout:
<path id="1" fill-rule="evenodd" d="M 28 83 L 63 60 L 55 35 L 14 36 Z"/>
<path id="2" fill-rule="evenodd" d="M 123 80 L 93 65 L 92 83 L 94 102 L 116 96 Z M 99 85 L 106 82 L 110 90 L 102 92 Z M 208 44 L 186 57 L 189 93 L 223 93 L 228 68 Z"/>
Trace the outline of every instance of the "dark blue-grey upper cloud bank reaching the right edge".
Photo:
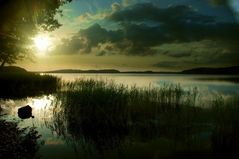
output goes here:
<path id="1" fill-rule="evenodd" d="M 145 54 L 156 53 L 155 46 L 189 43 L 201 40 L 224 41 L 225 47 L 237 41 L 239 25 L 217 22 L 214 17 L 200 14 L 188 6 L 159 8 L 151 3 L 136 4 L 113 13 L 109 18 L 121 24 L 125 38 L 132 43 L 132 54 L 141 49 Z M 142 52 L 141 52 L 142 54 Z M 189 56 L 189 52 L 170 53 L 170 56 Z"/>

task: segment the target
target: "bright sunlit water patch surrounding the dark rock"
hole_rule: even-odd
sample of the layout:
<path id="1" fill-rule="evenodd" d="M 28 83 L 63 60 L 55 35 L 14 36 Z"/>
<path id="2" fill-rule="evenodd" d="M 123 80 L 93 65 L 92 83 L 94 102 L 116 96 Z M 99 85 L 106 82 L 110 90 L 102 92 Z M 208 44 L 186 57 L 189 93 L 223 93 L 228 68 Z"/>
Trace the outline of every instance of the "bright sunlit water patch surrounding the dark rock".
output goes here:
<path id="1" fill-rule="evenodd" d="M 41 141 L 44 141 L 44 146 L 40 147 L 40 153 L 43 158 L 49 157 L 52 151 L 64 152 L 67 149 L 67 145 L 63 139 L 61 139 L 57 133 L 55 133 L 51 126 L 53 118 L 53 108 L 56 104 L 56 97 L 53 95 L 44 95 L 41 97 L 25 98 L 21 100 L 0 100 L 0 105 L 4 110 L 4 119 L 18 122 L 20 128 L 36 127 L 36 130 L 41 134 Z M 18 109 L 22 106 L 30 105 L 32 107 L 32 115 L 34 118 L 20 119 L 18 117 Z"/>

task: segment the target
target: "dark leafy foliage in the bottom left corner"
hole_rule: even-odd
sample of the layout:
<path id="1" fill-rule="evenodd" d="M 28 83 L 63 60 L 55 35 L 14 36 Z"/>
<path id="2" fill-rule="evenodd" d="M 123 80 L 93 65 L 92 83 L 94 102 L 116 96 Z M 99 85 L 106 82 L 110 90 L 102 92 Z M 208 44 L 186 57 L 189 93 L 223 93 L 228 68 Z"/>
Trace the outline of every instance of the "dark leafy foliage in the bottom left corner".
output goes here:
<path id="1" fill-rule="evenodd" d="M 0 158 L 32 159 L 39 149 L 35 128 L 20 129 L 17 123 L 0 119 Z"/>

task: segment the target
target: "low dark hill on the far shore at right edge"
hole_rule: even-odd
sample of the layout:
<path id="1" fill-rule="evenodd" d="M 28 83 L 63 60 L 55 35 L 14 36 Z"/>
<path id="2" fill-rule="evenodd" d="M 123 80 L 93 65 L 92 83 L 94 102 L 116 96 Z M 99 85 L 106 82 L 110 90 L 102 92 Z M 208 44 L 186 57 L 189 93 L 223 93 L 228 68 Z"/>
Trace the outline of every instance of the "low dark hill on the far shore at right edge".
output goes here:
<path id="1" fill-rule="evenodd" d="M 184 70 L 182 74 L 224 74 L 224 75 L 239 75 L 239 66 L 223 67 L 223 68 L 194 68 L 190 70 Z"/>

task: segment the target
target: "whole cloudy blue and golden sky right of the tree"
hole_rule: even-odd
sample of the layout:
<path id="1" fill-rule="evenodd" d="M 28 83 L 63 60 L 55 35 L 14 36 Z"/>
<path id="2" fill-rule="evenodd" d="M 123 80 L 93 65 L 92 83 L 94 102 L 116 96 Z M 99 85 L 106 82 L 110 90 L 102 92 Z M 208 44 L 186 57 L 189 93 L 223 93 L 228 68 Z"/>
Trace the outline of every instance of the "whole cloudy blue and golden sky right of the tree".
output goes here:
<path id="1" fill-rule="evenodd" d="M 239 61 L 239 0 L 73 0 L 31 71 L 180 71 Z"/>

